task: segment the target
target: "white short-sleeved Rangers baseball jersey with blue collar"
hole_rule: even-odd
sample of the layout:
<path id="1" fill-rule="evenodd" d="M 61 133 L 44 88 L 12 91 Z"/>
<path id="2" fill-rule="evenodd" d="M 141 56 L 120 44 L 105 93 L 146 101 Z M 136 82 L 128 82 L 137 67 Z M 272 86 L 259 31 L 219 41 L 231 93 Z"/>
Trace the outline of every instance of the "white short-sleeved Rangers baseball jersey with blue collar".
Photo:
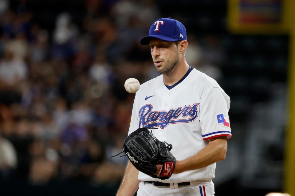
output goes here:
<path id="1" fill-rule="evenodd" d="M 209 144 L 208 139 L 231 137 L 228 111 L 230 97 L 218 83 L 206 74 L 191 68 L 173 86 L 163 83 L 163 75 L 140 85 L 136 92 L 129 133 L 141 127 L 150 129 L 160 141 L 173 145 L 171 153 L 183 160 L 198 153 Z M 215 163 L 204 168 L 172 174 L 160 180 L 139 172 L 138 179 L 179 183 L 188 181 L 211 182 Z"/>

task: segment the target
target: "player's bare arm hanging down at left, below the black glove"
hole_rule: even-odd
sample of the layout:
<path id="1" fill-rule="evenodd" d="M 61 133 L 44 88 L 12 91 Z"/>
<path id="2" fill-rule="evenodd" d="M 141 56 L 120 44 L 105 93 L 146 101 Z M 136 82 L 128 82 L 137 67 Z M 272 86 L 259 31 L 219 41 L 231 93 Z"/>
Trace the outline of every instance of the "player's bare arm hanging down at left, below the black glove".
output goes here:
<path id="1" fill-rule="evenodd" d="M 117 196 L 133 196 L 138 189 L 140 180 L 137 179 L 138 170 L 128 161 L 125 174 L 118 189 Z"/>

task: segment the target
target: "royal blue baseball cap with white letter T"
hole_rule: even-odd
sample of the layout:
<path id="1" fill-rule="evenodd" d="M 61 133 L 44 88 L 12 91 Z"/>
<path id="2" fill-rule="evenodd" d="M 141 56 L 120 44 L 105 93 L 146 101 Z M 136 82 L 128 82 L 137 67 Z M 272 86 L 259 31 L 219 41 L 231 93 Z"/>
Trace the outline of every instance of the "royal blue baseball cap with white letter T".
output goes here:
<path id="1" fill-rule="evenodd" d="M 151 25 L 148 36 L 141 38 L 140 44 L 148 45 L 153 37 L 165 41 L 182 41 L 187 39 L 187 31 L 181 22 L 172 18 L 161 18 Z"/>

